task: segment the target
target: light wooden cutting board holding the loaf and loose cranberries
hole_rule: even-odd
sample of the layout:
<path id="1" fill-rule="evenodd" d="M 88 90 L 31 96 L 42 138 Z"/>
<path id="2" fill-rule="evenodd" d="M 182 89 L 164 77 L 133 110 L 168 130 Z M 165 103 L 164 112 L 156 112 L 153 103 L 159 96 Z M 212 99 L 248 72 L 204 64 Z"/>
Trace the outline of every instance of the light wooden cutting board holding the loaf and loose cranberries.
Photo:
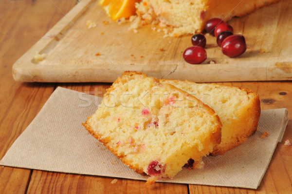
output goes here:
<path id="1" fill-rule="evenodd" d="M 88 29 L 88 20 L 96 27 Z M 183 60 L 183 51 L 192 46 L 191 35 L 164 38 L 163 29 L 152 25 L 134 33 L 130 22 L 112 21 L 97 0 L 82 0 L 15 62 L 13 77 L 27 82 L 113 82 L 134 70 L 195 82 L 292 80 L 292 0 L 228 23 L 235 34 L 244 35 L 247 51 L 228 58 L 216 39 L 206 35 L 207 59 L 192 65 Z M 46 58 L 37 62 L 36 53 Z"/>

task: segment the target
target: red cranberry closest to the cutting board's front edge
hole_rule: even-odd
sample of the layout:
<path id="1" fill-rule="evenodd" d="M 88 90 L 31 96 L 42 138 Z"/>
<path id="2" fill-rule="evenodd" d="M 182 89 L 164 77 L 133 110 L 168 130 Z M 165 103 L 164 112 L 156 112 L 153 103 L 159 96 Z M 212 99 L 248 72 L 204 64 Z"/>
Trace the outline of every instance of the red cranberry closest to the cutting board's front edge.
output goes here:
<path id="1" fill-rule="evenodd" d="M 183 58 L 190 64 L 200 64 L 207 58 L 207 53 L 200 46 L 191 46 L 183 52 Z"/>

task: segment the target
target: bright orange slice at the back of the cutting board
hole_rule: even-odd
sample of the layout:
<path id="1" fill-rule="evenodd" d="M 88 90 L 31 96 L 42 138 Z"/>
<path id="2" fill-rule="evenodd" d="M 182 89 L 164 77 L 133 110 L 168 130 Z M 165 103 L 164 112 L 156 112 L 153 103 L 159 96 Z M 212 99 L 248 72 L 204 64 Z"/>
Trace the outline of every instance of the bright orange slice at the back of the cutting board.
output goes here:
<path id="1" fill-rule="evenodd" d="M 140 0 L 100 0 L 101 4 L 106 10 L 110 18 L 113 20 L 121 18 L 129 18 L 136 13 L 135 3 Z"/>

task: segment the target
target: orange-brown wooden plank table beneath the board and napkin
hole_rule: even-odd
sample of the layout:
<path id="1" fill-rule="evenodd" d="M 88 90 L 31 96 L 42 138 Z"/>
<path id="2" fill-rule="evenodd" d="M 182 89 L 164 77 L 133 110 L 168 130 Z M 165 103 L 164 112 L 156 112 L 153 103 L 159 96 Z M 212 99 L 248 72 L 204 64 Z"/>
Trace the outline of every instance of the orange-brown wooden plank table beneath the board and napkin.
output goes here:
<path id="1" fill-rule="evenodd" d="M 54 2 L 54 3 L 53 3 Z M 22 83 L 12 78 L 12 65 L 37 42 L 76 0 L 0 1 L 0 158 L 34 119 L 57 86 L 80 92 L 105 92 L 108 83 Z M 225 82 L 256 91 L 261 108 L 287 108 L 292 113 L 292 82 Z M 95 94 L 102 96 L 103 94 Z M 292 116 L 281 143 L 257 190 L 155 183 L 111 177 L 73 175 L 0 166 L 0 193 L 292 193 Z"/>

